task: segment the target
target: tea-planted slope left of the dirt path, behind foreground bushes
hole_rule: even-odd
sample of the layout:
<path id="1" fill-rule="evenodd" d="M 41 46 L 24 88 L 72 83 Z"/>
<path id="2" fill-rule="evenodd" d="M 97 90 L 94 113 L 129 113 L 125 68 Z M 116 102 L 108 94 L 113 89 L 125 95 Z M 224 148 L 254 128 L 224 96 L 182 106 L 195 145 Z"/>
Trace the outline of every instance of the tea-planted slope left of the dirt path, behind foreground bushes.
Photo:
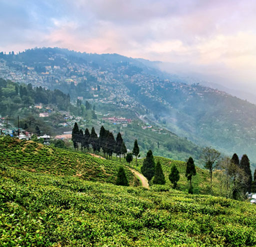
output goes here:
<path id="1" fill-rule="evenodd" d="M 32 141 L 0 137 L 0 164 L 32 172 L 77 176 L 83 180 L 115 183 L 119 163 L 89 154 L 51 148 Z M 136 184 L 125 168 L 130 185 Z"/>

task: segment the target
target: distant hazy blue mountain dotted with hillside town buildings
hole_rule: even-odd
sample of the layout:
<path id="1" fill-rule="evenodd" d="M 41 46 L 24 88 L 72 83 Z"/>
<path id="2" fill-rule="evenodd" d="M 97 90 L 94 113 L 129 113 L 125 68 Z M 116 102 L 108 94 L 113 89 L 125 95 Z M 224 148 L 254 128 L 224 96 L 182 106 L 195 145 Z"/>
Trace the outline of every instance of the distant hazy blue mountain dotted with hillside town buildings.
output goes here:
<path id="1" fill-rule="evenodd" d="M 256 105 L 219 89 L 182 81 L 157 62 L 60 48 L 0 53 L 0 77 L 69 93 L 113 112 L 133 113 L 199 146 L 256 161 Z M 128 109 L 128 111 L 127 111 Z M 129 112 L 129 113 L 127 113 Z M 125 116 L 124 116 L 125 117 Z"/>

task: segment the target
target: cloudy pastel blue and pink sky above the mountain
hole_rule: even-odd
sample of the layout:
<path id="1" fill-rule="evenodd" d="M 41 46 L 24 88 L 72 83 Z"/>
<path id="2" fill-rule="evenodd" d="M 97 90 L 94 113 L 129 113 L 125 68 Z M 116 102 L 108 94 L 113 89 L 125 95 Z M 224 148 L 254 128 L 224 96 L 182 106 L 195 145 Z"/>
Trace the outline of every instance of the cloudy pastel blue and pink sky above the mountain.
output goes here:
<path id="1" fill-rule="evenodd" d="M 0 51 L 118 53 L 256 94 L 255 0 L 0 0 L 0 9 Z"/>

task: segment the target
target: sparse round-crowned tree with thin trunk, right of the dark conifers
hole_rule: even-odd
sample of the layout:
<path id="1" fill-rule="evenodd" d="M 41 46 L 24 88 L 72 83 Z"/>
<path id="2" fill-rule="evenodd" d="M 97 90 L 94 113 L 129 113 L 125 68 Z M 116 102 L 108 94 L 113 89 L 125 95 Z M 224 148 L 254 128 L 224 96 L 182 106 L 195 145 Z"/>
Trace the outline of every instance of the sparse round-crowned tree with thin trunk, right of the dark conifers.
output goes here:
<path id="1" fill-rule="evenodd" d="M 216 161 L 218 160 L 220 153 L 211 147 L 205 147 L 201 152 L 201 160 L 204 163 L 204 167 L 209 170 L 210 173 L 210 188 L 212 186 L 212 171 L 216 167 Z"/>

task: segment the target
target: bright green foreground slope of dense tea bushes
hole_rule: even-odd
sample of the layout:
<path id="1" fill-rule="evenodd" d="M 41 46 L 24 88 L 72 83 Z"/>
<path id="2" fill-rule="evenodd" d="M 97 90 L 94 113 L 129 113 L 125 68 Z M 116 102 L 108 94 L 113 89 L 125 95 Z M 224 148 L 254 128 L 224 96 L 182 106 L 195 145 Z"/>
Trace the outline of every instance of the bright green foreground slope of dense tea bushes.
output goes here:
<path id="1" fill-rule="evenodd" d="M 1 164 L 1 246 L 256 245 L 254 206 L 163 188 L 118 187 Z"/>

